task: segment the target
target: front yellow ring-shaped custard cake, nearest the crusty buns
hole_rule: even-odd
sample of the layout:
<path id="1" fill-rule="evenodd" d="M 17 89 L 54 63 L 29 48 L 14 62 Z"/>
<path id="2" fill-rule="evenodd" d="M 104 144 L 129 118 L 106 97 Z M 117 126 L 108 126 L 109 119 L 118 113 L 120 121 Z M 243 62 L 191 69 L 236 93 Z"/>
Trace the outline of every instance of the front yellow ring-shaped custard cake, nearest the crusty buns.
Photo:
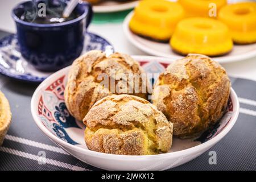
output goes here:
<path id="1" fill-rule="evenodd" d="M 233 48 L 228 27 L 215 19 L 188 18 L 181 20 L 170 40 L 172 49 L 181 55 L 200 53 L 219 56 Z"/>

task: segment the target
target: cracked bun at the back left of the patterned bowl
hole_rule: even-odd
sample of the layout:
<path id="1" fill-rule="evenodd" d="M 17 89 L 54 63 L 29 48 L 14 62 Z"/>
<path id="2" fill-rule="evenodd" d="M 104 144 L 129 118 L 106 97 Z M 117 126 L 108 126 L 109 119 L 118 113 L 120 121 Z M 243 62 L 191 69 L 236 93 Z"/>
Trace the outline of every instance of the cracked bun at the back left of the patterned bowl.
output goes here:
<path id="1" fill-rule="evenodd" d="M 65 104 L 69 112 L 81 121 L 96 101 L 112 93 L 123 93 L 122 90 L 116 90 L 115 85 L 122 86 L 125 92 L 129 88 L 129 84 L 134 84 L 134 82 L 130 83 L 123 79 L 123 75 L 128 76 L 129 73 L 138 75 L 143 73 L 139 63 L 129 55 L 113 53 L 106 57 L 102 51 L 89 51 L 80 56 L 72 64 L 64 92 Z M 104 82 L 114 81 L 114 87 L 110 88 L 110 84 L 109 86 L 100 84 L 104 77 L 101 79 L 98 79 L 98 77 L 102 74 L 108 76 Z M 135 90 L 135 86 L 130 88 Z M 139 82 L 139 88 L 137 89 L 139 90 L 138 93 L 131 90 L 134 95 L 146 98 L 147 94 L 142 93 L 142 81 Z"/>

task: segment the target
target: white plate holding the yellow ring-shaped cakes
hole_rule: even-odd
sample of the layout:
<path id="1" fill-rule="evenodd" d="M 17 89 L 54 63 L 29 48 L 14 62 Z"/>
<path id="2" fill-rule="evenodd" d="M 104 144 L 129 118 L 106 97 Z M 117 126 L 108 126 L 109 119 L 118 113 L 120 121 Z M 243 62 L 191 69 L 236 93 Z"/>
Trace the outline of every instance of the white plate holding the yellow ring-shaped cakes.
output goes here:
<path id="1" fill-rule="evenodd" d="M 142 38 L 133 34 L 129 28 L 129 22 L 133 12 L 128 14 L 123 22 L 123 31 L 126 38 L 137 48 L 154 56 L 170 57 L 171 59 L 180 59 L 183 56 L 172 51 L 168 43 L 159 43 L 152 40 Z M 233 50 L 224 56 L 214 57 L 218 63 L 231 63 L 234 61 L 242 61 L 256 56 L 256 43 L 249 45 L 235 45 Z"/>

